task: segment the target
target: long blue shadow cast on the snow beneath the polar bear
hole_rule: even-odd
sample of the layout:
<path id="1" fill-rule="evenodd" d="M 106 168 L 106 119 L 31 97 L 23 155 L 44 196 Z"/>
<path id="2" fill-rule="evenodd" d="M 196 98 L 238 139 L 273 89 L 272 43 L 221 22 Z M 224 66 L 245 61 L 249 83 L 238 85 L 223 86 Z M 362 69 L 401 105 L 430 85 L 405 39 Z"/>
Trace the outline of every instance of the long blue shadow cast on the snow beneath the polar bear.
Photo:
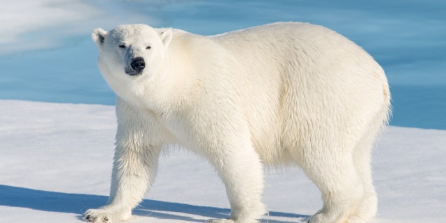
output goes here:
<path id="1" fill-rule="evenodd" d="M 100 195 L 68 194 L 63 192 L 50 192 L 24 187 L 0 185 L 0 206 L 31 208 L 34 210 L 59 213 L 74 213 L 79 215 L 79 219 L 82 218 L 83 213 L 87 209 L 98 208 L 107 203 L 107 200 L 107 196 Z M 180 213 L 186 215 L 181 215 Z M 231 214 L 231 210 L 228 208 L 194 206 L 186 203 L 144 199 L 144 201 L 133 210 L 133 214 L 137 216 L 151 216 L 160 219 L 182 220 L 186 222 L 203 222 L 209 218 L 226 218 Z M 187 215 L 203 216 L 203 219 L 196 219 Z M 308 217 L 307 215 L 296 215 L 275 211 L 270 212 L 269 215 L 270 217 L 289 218 Z M 263 216 L 263 218 L 268 219 L 267 216 Z M 282 220 L 268 220 L 268 222 L 286 223 Z"/>

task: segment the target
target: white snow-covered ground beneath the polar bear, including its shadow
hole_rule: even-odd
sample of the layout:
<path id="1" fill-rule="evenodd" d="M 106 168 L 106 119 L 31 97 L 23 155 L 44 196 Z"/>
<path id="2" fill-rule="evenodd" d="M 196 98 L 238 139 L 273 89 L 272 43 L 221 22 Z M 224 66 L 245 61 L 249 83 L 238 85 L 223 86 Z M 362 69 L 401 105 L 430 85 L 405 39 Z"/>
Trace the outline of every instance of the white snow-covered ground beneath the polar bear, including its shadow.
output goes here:
<path id="1" fill-rule="evenodd" d="M 0 100 L 0 222 L 79 222 L 107 201 L 114 107 Z M 390 127 L 373 157 L 375 222 L 446 222 L 446 131 Z M 321 208 L 297 168 L 266 171 L 262 222 L 300 222 Z M 160 162 L 134 222 L 203 222 L 229 203 L 210 165 L 182 148 Z"/>

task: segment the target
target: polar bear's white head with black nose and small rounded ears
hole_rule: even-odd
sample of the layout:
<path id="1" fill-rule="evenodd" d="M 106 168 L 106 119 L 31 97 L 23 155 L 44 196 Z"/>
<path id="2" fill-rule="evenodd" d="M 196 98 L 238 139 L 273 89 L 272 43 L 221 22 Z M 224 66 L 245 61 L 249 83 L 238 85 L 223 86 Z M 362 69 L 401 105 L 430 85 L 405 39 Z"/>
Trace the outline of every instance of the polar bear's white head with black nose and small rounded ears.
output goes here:
<path id="1" fill-rule="evenodd" d="M 144 24 L 117 26 L 91 34 L 99 49 L 98 66 L 105 79 L 128 79 L 156 74 L 172 39 L 171 29 L 153 29 Z M 110 83 L 109 83 L 110 84 Z"/>

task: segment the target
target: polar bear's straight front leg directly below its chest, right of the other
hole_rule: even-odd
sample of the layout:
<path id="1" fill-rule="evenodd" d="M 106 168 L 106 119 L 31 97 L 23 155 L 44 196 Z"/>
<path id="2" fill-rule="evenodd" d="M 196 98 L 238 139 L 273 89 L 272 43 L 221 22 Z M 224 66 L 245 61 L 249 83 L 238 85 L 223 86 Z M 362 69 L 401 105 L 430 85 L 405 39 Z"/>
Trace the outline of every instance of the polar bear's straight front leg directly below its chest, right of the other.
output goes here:
<path id="1" fill-rule="evenodd" d="M 261 202 L 263 194 L 263 165 L 254 148 L 226 146 L 212 149 L 209 160 L 226 187 L 231 204 L 229 219 L 208 220 L 212 223 L 254 223 L 266 207 Z"/>

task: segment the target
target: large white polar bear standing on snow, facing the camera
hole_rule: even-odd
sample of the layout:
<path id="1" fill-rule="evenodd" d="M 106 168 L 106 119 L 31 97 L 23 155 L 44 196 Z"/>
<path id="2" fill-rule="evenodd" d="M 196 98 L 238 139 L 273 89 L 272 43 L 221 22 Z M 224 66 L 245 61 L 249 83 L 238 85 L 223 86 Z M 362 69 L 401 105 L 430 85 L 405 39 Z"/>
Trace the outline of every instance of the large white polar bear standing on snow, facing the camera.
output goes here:
<path id="1" fill-rule="evenodd" d="M 145 24 L 95 29 L 98 66 L 116 93 L 109 201 L 89 222 L 128 220 L 163 145 L 206 157 L 226 187 L 228 219 L 266 213 L 263 167 L 296 164 L 321 191 L 311 223 L 376 214 L 371 147 L 390 113 L 383 69 L 322 26 L 279 22 L 199 36 Z"/>

